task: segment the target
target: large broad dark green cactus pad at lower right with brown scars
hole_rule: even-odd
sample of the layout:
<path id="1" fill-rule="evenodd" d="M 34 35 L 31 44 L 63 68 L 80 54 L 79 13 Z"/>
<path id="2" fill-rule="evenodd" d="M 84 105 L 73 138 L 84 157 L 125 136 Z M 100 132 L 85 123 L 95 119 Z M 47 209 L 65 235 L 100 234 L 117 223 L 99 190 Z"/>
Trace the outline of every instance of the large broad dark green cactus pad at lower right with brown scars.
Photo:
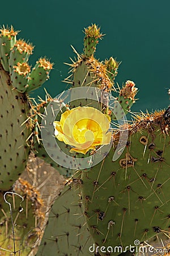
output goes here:
<path id="1" fill-rule="evenodd" d="M 102 255 L 118 255 L 115 246 L 134 246 L 169 227 L 169 108 L 138 116 L 129 126 L 124 152 L 82 172 L 82 197 L 88 228 Z M 127 129 L 127 127 L 126 127 Z M 118 137 L 114 135 L 114 143 Z"/>

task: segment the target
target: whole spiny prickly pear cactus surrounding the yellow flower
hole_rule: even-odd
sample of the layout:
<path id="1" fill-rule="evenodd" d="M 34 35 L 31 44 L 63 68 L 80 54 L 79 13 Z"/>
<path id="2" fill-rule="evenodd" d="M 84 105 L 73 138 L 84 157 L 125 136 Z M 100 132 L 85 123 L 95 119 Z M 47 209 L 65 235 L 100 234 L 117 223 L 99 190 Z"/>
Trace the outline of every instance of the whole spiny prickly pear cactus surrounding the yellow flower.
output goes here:
<path id="1" fill-rule="evenodd" d="M 73 174 L 71 170 L 58 166 L 57 161 L 50 159 L 50 157 L 53 158 L 55 145 L 49 143 L 51 153 L 48 154 L 44 141 L 42 143 L 40 123 L 45 118 L 48 104 L 51 107 L 50 115 L 55 115 L 54 99 L 47 94 L 45 101 L 35 104 L 28 96 L 29 92 L 37 89 L 49 78 L 52 64 L 45 58 L 41 58 L 31 70 L 28 59 L 33 47 L 24 40 L 16 40 L 17 34 L 18 32 L 11 27 L 2 28 L 0 35 L 2 64 L 0 66 L 0 101 L 3 105 L 0 111 L 1 191 L 12 188 L 14 181 L 18 179 L 27 164 L 30 149 L 61 174 L 65 176 Z M 134 104 L 137 93 L 134 82 L 128 80 L 122 88 L 118 85 L 116 88 L 114 84 L 120 63 L 113 57 L 105 61 L 96 60 L 94 57 L 96 45 L 102 36 L 100 28 L 95 24 L 85 29 L 84 53 L 80 55 L 74 49 L 77 60 L 69 64 L 72 75 L 65 80 L 72 85 L 72 88 L 95 87 L 99 91 L 98 101 L 90 100 L 88 91 L 87 98 L 82 99 L 81 92 L 74 94 L 73 90 L 70 105 L 64 105 L 62 99 L 55 100 L 58 104 L 57 108 L 61 110 L 57 116 L 58 121 L 62 112 L 76 106 L 96 108 L 110 121 L 111 118 L 112 120 L 121 119 Z M 113 105 L 109 105 L 109 97 L 114 99 Z M 136 116 L 133 124 L 120 127 L 113 133 L 113 147 L 102 162 L 87 170 L 79 171 L 81 177 L 78 179 L 74 175 L 71 177 L 70 180 L 74 179 L 73 186 L 71 189 L 68 186 L 65 187 L 54 203 L 44 240 L 37 255 L 49 255 L 49 247 L 52 255 L 94 255 L 94 253 L 99 255 L 97 251 L 101 255 L 118 255 L 126 246 L 133 246 L 134 241 L 143 242 L 162 230 L 168 230 L 169 113 L 168 108 L 151 115 Z M 53 123 L 51 127 L 53 129 Z M 125 150 L 120 151 L 120 158 L 113 162 L 114 152 L 121 146 L 120 135 L 125 130 L 129 134 Z M 72 154 L 69 152 L 70 145 L 62 141 L 58 144 L 67 155 Z M 93 159 L 93 153 L 91 151 L 87 155 L 90 154 Z M 85 154 L 85 157 L 87 155 Z M 82 156 L 75 153 L 74 157 Z M 62 160 L 66 161 L 66 159 Z M 75 183 L 78 187 L 75 187 Z M 30 238 L 29 230 L 37 228 L 37 225 L 34 225 L 35 220 L 37 222 L 40 218 L 42 223 L 44 217 L 40 210 L 42 201 L 40 199 L 36 201 L 34 197 L 37 192 L 26 181 L 20 180 L 20 184 L 22 185 L 16 183 L 14 191 L 21 195 L 27 194 L 25 207 L 23 207 L 26 209 L 24 217 L 22 213 L 18 213 L 18 210 L 15 212 L 15 209 L 20 207 L 20 198 L 16 199 L 15 203 L 14 198 L 9 199 L 14 208 L 14 224 L 18 220 L 18 226 L 15 227 L 18 250 L 23 245 L 31 246 L 32 242 L 37 240 L 36 235 L 39 232 L 35 231 L 33 240 L 25 238 L 26 243 L 22 242 L 20 246 L 23 237 L 27 237 L 28 234 Z M 32 208 L 32 200 L 34 208 Z M 18 206 L 16 207 L 15 204 Z M 1 207 L 3 209 L 1 247 L 7 248 L 5 255 L 7 252 L 16 254 L 17 249 L 12 247 L 13 240 L 8 233 L 8 230 L 11 230 L 10 221 L 8 221 L 10 215 L 7 214 L 8 205 L 2 201 Z M 28 213 L 32 216 L 29 225 Z M 23 223 L 27 226 L 25 233 L 20 230 L 20 227 L 24 226 Z M 41 224 L 39 226 L 41 227 Z M 94 243 L 96 247 L 89 251 L 89 247 Z M 114 251 L 115 246 L 118 246 L 119 250 Z M 23 255 L 28 255 L 29 249 L 25 248 L 23 252 L 25 253 Z"/>

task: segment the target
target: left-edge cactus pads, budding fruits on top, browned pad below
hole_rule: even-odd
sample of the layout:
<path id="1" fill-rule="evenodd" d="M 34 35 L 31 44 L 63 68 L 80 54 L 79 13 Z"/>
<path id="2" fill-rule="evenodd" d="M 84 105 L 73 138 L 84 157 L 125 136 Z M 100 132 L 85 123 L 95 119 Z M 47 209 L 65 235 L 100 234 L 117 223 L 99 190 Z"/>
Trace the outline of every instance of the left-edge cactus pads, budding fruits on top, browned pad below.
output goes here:
<path id="1" fill-rule="evenodd" d="M 37 189 L 25 180 L 16 180 L 25 170 L 32 141 L 40 143 L 37 117 L 41 112 L 28 92 L 49 78 L 53 64 L 40 58 L 31 70 L 28 58 L 33 47 L 24 40 L 16 40 L 17 34 L 13 27 L 3 27 L 0 35 L 1 255 L 28 255 L 40 240 L 45 218 Z"/>

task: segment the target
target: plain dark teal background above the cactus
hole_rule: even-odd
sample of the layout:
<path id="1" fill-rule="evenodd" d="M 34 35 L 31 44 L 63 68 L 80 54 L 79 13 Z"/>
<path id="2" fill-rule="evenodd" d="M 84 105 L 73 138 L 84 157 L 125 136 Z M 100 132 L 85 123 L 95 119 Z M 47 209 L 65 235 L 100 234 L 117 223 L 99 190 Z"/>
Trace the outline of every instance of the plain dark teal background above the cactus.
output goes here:
<path id="1" fill-rule="evenodd" d="M 52 97 L 65 89 L 72 44 L 83 51 L 83 28 L 99 24 L 106 34 L 96 57 L 122 61 L 116 81 L 133 80 L 140 99 L 133 111 L 166 108 L 170 88 L 169 0 L 29 0 L 1 1 L 0 24 L 12 24 L 20 38 L 35 45 L 30 63 L 48 56 L 54 65 L 45 87 Z M 44 97 L 44 89 L 36 92 Z"/>

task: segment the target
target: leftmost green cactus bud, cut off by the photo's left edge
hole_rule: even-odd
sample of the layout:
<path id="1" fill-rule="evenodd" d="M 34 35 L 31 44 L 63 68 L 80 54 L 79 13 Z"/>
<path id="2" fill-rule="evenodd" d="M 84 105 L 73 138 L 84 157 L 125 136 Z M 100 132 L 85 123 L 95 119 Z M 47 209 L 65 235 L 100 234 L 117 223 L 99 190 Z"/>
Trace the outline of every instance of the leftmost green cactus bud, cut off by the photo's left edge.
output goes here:
<path id="1" fill-rule="evenodd" d="M 11 28 L 3 27 L 0 31 L 0 59 L 5 71 L 9 72 L 8 57 L 10 55 L 11 48 L 16 42 L 16 35 L 18 32 L 14 31 L 12 26 Z"/>

